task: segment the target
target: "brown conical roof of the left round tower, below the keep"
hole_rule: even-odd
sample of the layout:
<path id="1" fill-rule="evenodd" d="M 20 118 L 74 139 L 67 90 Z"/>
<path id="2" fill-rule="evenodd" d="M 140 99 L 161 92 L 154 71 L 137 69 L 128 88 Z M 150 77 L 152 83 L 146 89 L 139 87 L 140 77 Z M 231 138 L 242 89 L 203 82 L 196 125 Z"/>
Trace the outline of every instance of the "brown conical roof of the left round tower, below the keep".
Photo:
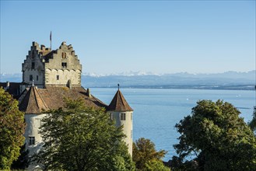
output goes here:
<path id="1" fill-rule="evenodd" d="M 48 110 L 48 107 L 37 91 L 37 88 L 31 86 L 29 91 L 26 92 L 26 96 L 19 104 L 19 110 L 25 113 L 39 114 L 42 110 Z"/>

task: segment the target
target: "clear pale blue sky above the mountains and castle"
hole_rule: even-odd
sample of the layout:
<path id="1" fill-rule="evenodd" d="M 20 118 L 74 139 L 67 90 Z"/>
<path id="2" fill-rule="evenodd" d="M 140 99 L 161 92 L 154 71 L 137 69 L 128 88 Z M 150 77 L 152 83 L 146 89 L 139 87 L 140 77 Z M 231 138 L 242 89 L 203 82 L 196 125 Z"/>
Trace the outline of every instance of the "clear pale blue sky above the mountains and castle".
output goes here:
<path id="1" fill-rule="evenodd" d="M 32 41 L 72 44 L 82 72 L 248 72 L 255 1 L 1 1 L 1 73 Z"/>

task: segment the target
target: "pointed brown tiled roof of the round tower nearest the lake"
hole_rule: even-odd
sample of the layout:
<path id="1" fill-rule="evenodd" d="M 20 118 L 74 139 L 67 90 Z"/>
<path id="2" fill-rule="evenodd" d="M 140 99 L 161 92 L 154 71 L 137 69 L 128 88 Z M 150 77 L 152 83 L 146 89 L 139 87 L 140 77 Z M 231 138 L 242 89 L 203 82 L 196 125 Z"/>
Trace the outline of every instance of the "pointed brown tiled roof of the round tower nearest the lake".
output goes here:
<path id="1" fill-rule="evenodd" d="M 119 89 L 117 90 L 117 93 L 114 95 L 114 98 L 112 99 L 107 110 L 118 112 L 133 111 L 132 107 L 128 105 L 127 101 L 124 99 L 124 96 Z"/>

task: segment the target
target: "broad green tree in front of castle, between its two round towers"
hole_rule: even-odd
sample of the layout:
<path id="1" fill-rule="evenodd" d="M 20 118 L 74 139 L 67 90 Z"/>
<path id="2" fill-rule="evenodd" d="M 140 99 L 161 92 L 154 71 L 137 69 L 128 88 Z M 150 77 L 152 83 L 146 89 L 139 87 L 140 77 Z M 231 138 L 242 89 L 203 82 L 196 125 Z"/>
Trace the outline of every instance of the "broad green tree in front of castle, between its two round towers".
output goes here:
<path id="1" fill-rule="evenodd" d="M 86 107 L 82 99 L 66 99 L 64 109 L 48 111 L 40 134 L 44 146 L 36 159 L 44 169 L 135 169 L 122 127 L 115 127 L 103 109 Z"/>

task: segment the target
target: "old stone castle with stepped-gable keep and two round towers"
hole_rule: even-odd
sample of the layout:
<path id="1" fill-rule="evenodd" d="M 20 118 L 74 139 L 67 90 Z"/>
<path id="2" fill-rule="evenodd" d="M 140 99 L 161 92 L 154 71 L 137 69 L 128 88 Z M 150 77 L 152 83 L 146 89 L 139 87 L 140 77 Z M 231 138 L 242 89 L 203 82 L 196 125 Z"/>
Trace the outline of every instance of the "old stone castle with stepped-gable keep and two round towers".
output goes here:
<path id="1" fill-rule="evenodd" d="M 33 155 L 44 144 L 38 133 L 41 119 L 47 115 L 44 110 L 64 106 L 64 97 L 82 98 L 86 106 L 105 108 L 116 126 L 124 126 L 124 142 L 132 155 L 132 113 L 131 106 L 124 99 L 119 86 L 110 105 L 91 95 L 89 89 L 81 86 L 82 65 L 72 45 L 62 42 L 54 51 L 33 42 L 22 65 L 23 82 L 2 82 L 12 96 L 19 100 L 19 110 L 25 113 L 26 149 Z"/>

